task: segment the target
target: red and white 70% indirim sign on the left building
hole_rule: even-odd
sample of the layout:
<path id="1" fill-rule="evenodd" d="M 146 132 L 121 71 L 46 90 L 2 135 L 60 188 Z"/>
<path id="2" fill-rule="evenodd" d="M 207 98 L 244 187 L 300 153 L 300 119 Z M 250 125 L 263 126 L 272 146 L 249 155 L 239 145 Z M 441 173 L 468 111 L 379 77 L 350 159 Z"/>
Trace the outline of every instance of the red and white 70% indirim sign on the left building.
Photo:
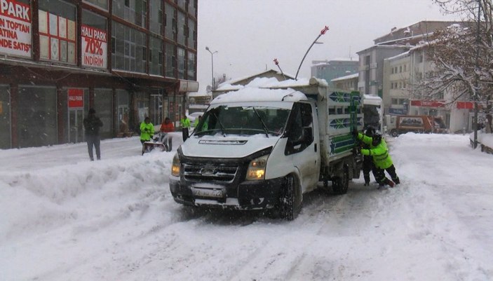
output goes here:
<path id="1" fill-rule="evenodd" d="M 107 32 L 102 29 L 81 25 L 82 65 L 84 67 L 107 68 Z"/>

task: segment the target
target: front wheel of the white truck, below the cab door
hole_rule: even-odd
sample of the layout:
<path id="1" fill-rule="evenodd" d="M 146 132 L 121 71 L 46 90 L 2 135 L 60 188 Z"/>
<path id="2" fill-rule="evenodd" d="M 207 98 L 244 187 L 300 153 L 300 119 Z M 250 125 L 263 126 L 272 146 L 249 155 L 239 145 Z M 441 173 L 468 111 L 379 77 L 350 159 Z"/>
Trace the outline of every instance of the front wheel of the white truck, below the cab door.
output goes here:
<path id="1" fill-rule="evenodd" d="M 279 195 L 279 217 L 287 221 L 296 219 L 301 207 L 301 191 L 295 177 L 288 175 L 285 177 L 281 193 Z"/>

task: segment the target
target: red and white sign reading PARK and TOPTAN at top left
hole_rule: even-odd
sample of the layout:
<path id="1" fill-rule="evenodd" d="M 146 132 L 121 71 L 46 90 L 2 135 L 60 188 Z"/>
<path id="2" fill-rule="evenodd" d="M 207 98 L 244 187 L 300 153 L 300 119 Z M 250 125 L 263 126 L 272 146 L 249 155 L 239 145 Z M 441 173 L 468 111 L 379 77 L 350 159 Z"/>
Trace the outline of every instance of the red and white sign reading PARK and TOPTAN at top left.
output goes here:
<path id="1" fill-rule="evenodd" d="M 0 53 L 31 57 L 31 8 L 13 0 L 0 0 Z"/>

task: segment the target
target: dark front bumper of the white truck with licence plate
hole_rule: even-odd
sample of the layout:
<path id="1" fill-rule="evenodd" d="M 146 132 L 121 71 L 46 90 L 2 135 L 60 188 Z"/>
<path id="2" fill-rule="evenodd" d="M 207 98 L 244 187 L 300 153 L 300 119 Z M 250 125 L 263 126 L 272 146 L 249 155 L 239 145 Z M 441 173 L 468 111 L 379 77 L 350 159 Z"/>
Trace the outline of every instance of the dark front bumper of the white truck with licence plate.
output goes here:
<path id="1" fill-rule="evenodd" d="M 203 185 L 170 177 L 170 191 L 177 203 L 233 210 L 262 210 L 278 203 L 284 178 L 243 181 L 241 184 Z"/>

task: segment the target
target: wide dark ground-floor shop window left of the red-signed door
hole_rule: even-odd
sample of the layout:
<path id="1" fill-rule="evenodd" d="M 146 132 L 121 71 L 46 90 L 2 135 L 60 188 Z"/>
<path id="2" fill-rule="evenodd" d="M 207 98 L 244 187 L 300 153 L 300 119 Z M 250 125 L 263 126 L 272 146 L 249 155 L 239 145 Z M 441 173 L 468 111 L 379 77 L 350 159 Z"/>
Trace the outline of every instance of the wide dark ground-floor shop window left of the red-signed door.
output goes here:
<path id="1" fill-rule="evenodd" d="M 19 86 L 19 147 L 47 146 L 58 142 L 56 88 Z"/>

